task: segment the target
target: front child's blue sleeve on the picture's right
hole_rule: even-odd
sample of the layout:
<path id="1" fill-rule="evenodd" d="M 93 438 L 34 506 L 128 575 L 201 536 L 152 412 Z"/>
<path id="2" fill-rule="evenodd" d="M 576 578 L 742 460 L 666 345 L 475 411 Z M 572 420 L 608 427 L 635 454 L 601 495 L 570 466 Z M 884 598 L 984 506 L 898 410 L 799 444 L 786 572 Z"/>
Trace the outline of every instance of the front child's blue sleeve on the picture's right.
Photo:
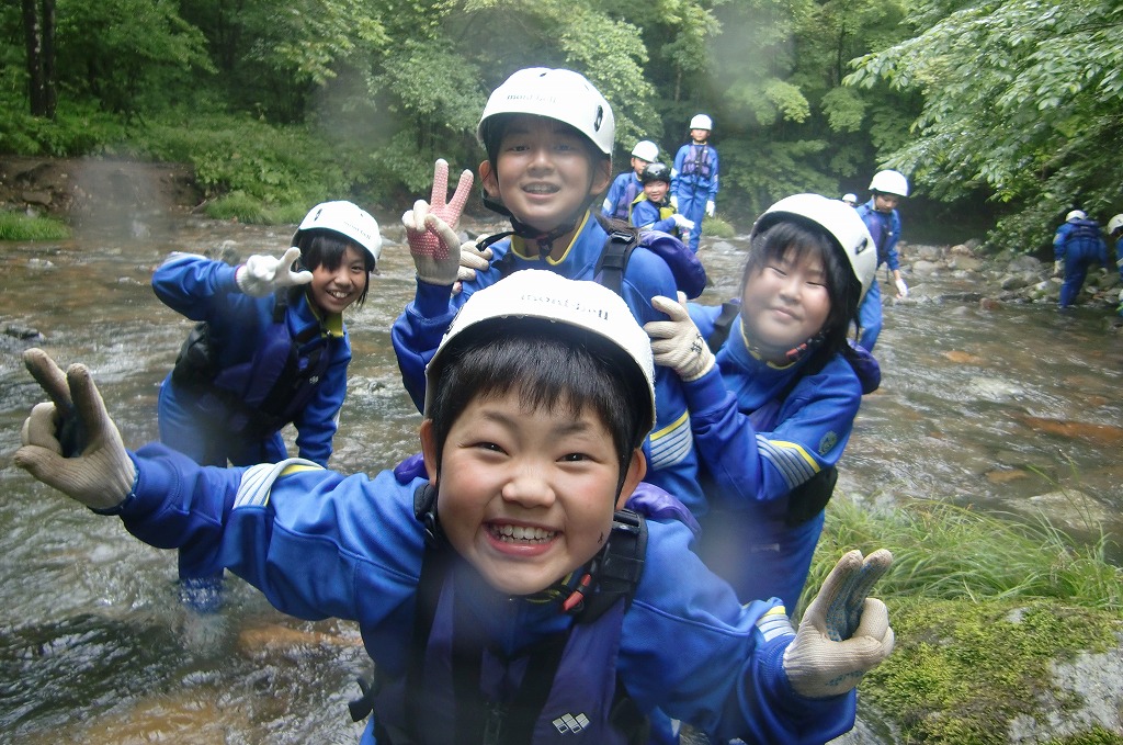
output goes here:
<path id="1" fill-rule="evenodd" d="M 783 667 L 794 638 L 770 623 L 778 601 L 741 605 L 673 520 L 648 520 L 648 552 L 624 617 L 620 673 L 643 710 L 703 728 L 711 742 L 825 743 L 853 726 L 856 694 L 809 699 Z M 789 627 L 787 627 L 789 628 Z"/>

